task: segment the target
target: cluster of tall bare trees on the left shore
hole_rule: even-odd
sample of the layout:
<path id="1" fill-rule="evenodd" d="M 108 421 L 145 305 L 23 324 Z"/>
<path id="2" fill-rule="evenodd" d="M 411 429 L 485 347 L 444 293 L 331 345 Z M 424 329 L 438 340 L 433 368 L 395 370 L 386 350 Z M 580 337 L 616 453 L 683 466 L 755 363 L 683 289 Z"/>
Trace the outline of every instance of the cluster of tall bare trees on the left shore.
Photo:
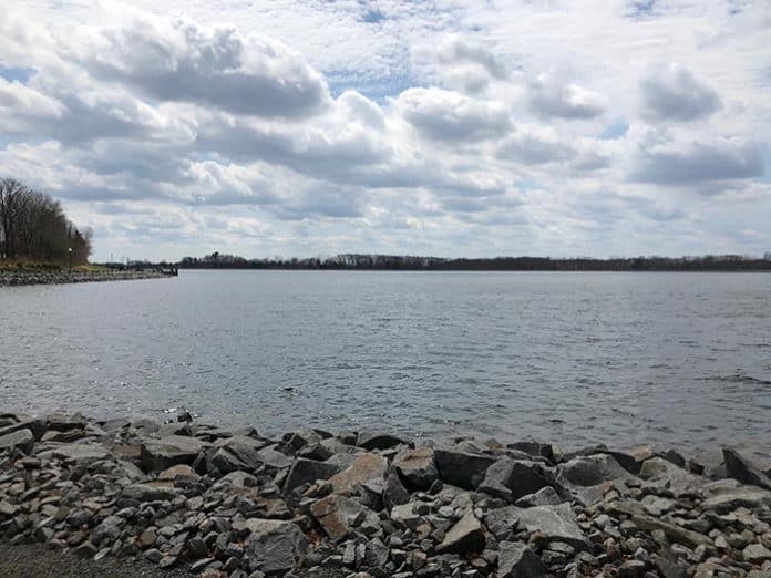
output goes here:
<path id="1" fill-rule="evenodd" d="M 14 178 L 0 179 L 0 258 L 82 265 L 91 231 L 81 233 L 58 200 Z"/>

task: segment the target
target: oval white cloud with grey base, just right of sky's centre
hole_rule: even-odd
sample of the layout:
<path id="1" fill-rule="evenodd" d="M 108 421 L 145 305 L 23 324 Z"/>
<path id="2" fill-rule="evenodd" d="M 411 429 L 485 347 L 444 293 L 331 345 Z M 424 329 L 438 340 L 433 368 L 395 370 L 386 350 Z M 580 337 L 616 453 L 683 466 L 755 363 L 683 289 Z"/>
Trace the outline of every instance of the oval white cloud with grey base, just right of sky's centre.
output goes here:
<path id="1" fill-rule="evenodd" d="M 409 89 L 394 101 L 394 107 L 433 141 L 462 144 L 502 136 L 511 128 L 508 113 L 500 103 L 442 89 Z"/>

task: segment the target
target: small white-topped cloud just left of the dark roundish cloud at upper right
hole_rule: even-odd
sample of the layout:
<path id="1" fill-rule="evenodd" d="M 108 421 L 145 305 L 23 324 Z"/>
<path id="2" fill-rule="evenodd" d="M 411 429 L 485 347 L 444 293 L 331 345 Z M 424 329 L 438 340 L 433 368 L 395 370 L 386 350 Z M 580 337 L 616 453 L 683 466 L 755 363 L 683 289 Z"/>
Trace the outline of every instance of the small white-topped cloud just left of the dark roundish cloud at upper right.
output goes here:
<path id="1" fill-rule="evenodd" d="M 541 73 L 530 85 L 530 106 L 543 117 L 594 118 L 605 111 L 602 96 L 549 73 Z"/>

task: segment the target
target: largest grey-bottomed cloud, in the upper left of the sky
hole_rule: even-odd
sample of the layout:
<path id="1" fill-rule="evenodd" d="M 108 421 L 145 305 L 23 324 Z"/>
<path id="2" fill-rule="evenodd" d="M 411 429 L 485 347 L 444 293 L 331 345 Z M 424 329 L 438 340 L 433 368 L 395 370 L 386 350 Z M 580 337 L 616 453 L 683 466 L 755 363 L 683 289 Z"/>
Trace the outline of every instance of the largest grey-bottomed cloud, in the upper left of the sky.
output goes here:
<path id="1" fill-rule="evenodd" d="M 235 28 L 134 16 L 89 37 L 76 59 L 91 74 L 153 99 L 235 114 L 302 117 L 329 103 L 321 75 L 287 47 Z"/>

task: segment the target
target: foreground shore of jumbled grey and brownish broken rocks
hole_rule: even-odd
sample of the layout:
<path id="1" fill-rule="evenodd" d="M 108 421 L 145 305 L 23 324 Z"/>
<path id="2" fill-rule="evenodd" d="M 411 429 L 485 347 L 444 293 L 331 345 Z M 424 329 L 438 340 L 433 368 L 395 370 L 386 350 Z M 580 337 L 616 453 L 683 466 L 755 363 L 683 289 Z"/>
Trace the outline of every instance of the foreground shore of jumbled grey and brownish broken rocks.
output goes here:
<path id="1" fill-rule="evenodd" d="M 0 414 L 0 541 L 174 576 L 771 577 L 769 472 L 721 453 Z"/>

